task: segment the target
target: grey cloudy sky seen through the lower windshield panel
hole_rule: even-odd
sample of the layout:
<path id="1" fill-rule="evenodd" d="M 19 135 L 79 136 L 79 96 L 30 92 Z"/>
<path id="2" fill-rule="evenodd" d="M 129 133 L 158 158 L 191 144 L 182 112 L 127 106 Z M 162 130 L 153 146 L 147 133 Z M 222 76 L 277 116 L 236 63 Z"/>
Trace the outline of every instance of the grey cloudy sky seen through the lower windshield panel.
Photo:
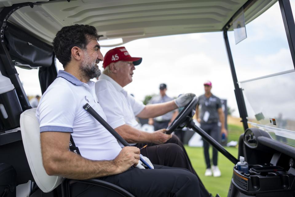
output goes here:
<path id="1" fill-rule="evenodd" d="M 276 117 L 282 113 L 285 119 L 294 118 L 295 105 L 295 72 L 277 75 L 242 83 L 244 94 L 255 113 L 249 115 L 255 119 L 254 114 L 262 112 L 265 118 Z"/>

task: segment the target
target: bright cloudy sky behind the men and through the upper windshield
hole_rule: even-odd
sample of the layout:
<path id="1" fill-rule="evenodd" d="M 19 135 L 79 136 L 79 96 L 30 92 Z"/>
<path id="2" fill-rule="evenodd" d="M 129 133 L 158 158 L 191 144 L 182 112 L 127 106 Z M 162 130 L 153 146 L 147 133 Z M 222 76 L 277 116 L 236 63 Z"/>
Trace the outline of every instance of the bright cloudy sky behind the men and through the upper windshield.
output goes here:
<path id="1" fill-rule="evenodd" d="M 294 1 L 291 6 L 295 10 Z M 246 32 L 247 38 L 237 45 L 234 32 L 228 32 L 239 82 L 294 69 L 278 3 L 247 24 Z M 122 46 L 132 57 L 143 58 L 132 83 L 124 87 L 136 99 L 158 94 L 160 83 L 167 84 L 170 97 L 189 92 L 199 96 L 204 94 L 203 83 L 210 80 L 212 93 L 227 99 L 233 115 L 239 116 L 222 32 L 144 38 Z M 102 47 L 101 52 L 110 49 Z M 57 67 L 62 69 L 59 62 Z M 41 95 L 38 70 L 17 70 L 27 95 Z"/>

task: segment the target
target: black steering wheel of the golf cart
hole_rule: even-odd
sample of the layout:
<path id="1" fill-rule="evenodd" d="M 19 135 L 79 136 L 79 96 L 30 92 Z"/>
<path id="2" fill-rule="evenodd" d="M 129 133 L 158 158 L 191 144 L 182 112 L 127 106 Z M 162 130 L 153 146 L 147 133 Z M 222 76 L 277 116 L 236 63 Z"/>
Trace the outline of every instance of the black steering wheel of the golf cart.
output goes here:
<path id="1" fill-rule="evenodd" d="M 171 134 L 175 129 L 182 129 L 195 115 L 195 108 L 198 102 L 198 97 L 194 97 L 191 102 L 187 103 L 184 109 L 177 115 L 173 122 L 167 127 L 167 134 Z"/>

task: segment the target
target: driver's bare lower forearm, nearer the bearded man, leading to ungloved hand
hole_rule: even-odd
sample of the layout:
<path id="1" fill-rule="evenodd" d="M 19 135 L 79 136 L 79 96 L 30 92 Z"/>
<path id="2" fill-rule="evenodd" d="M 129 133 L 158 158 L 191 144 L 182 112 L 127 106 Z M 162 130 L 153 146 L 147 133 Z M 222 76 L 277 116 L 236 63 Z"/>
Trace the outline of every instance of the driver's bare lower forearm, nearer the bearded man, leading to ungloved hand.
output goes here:
<path id="1" fill-rule="evenodd" d="M 152 138 L 151 133 L 140 131 L 127 124 L 115 128 L 115 131 L 128 143 L 151 142 Z"/>

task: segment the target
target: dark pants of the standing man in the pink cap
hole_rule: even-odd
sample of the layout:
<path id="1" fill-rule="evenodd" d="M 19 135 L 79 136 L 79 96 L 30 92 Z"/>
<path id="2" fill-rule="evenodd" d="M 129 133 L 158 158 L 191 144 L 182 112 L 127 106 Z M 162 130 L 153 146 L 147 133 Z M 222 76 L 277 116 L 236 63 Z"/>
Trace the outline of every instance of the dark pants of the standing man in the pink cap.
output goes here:
<path id="1" fill-rule="evenodd" d="M 215 139 L 217 142 L 220 142 L 220 127 L 218 127 L 217 123 L 201 123 L 201 128 L 209 134 L 213 139 Z M 204 156 L 206 161 L 207 168 L 211 167 L 210 163 L 210 155 L 209 155 L 209 143 L 203 139 L 203 146 L 204 146 Z M 218 151 L 213 148 L 213 165 L 217 166 L 217 159 L 218 159 Z"/>

